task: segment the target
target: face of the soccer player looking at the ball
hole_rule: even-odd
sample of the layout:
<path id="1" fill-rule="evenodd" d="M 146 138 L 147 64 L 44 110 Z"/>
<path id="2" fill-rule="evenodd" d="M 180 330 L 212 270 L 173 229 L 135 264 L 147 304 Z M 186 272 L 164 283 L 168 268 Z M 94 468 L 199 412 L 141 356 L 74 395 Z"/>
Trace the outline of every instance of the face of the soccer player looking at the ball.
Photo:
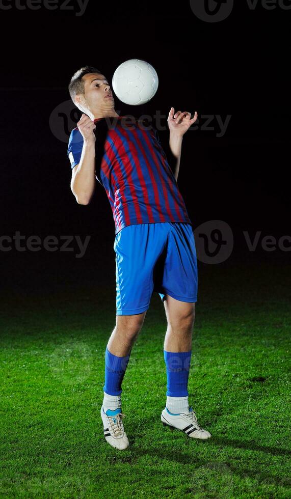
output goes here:
<path id="1" fill-rule="evenodd" d="M 103 74 L 90 73 L 83 76 L 84 95 L 81 103 L 92 113 L 96 110 L 114 109 L 114 98 L 107 78 Z M 84 99 L 84 100 L 83 100 Z"/>

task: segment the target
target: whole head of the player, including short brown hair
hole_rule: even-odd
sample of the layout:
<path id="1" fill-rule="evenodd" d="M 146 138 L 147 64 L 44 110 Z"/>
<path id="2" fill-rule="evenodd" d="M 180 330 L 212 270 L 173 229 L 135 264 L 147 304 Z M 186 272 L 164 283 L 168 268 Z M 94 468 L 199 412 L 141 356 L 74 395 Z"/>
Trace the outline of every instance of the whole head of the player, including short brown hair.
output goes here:
<path id="1" fill-rule="evenodd" d="M 92 66 L 76 71 L 71 78 L 69 92 L 76 107 L 88 116 L 97 118 L 115 113 L 108 79 Z"/>

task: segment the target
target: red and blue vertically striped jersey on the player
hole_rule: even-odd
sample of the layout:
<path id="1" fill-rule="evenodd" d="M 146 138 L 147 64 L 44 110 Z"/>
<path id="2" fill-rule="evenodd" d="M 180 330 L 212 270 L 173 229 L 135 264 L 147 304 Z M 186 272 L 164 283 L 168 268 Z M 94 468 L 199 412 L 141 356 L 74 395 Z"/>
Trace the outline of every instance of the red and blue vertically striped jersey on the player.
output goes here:
<path id="1" fill-rule="evenodd" d="M 192 225 L 157 130 L 145 120 L 126 116 L 97 118 L 94 123 L 95 177 L 107 193 L 115 234 L 133 224 Z M 83 136 L 74 128 L 68 144 L 71 168 L 80 162 L 82 148 Z"/>

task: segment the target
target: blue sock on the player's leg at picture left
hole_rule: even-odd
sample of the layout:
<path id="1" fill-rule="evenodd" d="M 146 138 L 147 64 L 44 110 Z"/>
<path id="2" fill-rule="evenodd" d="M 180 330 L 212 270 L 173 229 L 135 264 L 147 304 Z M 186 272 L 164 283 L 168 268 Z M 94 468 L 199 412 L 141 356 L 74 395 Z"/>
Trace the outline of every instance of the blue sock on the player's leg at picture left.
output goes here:
<path id="1" fill-rule="evenodd" d="M 130 350 L 131 352 L 131 350 Z M 105 383 L 103 392 L 109 395 L 121 395 L 121 383 L 129 361 L 130 352 L 125 357 L 118 357 L 111 353 L 106 347 L 105 350 Z"/>

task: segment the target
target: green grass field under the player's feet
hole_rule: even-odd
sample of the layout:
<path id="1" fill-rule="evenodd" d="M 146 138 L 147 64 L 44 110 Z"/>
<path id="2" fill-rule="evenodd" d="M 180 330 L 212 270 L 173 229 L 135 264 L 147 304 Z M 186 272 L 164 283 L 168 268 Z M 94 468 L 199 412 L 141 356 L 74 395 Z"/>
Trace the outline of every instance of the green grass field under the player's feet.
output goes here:
<path id="1" fill-rule="evenodd" d="M 1 295 L 1 497 L 291 496 L 290 265 L 199 270 L 188 388 L 207 441 L 161 423 L 157 294 L 122 384 L 125 451 L 105 441 L 99 413 L 114 269 L 101 289 L 67 278 Z"/>

